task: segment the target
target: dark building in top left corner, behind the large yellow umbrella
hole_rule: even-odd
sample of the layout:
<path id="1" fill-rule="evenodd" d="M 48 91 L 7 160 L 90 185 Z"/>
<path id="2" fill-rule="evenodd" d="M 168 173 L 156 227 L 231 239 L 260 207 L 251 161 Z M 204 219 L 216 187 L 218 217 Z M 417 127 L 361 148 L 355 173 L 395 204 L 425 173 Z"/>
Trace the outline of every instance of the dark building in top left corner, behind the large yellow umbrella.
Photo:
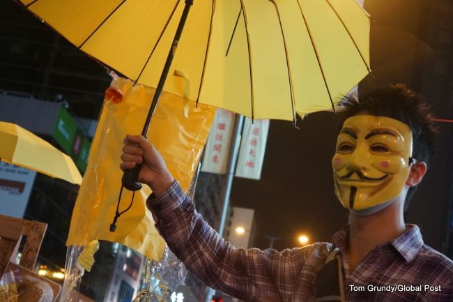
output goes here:
<path id="1" fill-rule="evenodd" d="M 110 77 L 15 1 L 0 3 L 0 90 L 55 102 L 98 119 Z"/>

